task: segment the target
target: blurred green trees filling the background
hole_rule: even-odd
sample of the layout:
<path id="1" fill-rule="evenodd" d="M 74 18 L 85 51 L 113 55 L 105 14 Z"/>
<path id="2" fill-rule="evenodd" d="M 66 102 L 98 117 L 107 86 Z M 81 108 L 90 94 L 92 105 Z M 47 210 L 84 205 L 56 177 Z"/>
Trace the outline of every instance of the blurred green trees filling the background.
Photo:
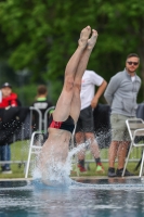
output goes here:
<path id="1" fill-rule="evenodd" d="M 138 53 L 142 78 L 138 102 L 143 102 L 143 0 L 0 0 L 0 85 L 12 84 L 22 104 L 30 105 L 37 86 L 44 84 L 55 103 L 67 61 L 87 25 L 99 31 L 88 69 L 108 82 L 125 68 L 127 55 Z"/>

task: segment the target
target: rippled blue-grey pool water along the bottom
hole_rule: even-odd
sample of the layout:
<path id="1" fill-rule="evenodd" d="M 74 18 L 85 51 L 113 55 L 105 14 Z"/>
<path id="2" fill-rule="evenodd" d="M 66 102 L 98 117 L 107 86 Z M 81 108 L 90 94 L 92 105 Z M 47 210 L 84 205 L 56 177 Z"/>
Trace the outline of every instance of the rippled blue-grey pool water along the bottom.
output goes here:
<path id="1" fill-rule="evenodd" d="M 78 179 L 67 187 L 1 181 L 0 217 L 142 217 L 144 182 Z"/>

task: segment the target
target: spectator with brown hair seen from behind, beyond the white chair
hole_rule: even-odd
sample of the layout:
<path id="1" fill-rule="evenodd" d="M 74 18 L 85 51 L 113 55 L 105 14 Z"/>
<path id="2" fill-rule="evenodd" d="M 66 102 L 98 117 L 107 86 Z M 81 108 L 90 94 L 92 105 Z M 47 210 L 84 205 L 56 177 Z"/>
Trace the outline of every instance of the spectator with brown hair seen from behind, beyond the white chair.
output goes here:
<path id="1" fill-rule="evenodd" d="M 48 100 L 48 89 L 44 85 L 38 86 L 36 101 L 32 103 L 32 106 L 35 108 L 40 110 L 42 113 L 42 129 L 43 129 L 44 113 L 49 107 L 53 106 L 53 104 Z M 35 112 L 34 112 L 34 127 L 38 129 L 38 118 Z"/>

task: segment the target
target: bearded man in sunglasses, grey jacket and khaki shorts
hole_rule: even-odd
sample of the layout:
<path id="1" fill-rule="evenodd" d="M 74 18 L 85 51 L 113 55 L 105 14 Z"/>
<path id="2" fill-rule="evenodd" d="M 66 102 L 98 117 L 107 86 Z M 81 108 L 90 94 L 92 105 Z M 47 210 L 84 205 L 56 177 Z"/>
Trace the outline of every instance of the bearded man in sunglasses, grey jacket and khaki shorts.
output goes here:
<path id="1" fill-rule="evenodd" d="M 112 107 L 112 143 L 108 153 L 108 177 L 121 177 L 127 156 L 130 138 L 126 119 L 136 116 L 136 97 L 141 87 L 141 79 L 135 71 L 140 58 L 135 53 L 127 56 L 126 68 L 112 77 L 104 97 Z M 115 173 L 115 159 L 118 157 L 118 168 Z M 132 176 L 126 170 L 125 176 Z"/>

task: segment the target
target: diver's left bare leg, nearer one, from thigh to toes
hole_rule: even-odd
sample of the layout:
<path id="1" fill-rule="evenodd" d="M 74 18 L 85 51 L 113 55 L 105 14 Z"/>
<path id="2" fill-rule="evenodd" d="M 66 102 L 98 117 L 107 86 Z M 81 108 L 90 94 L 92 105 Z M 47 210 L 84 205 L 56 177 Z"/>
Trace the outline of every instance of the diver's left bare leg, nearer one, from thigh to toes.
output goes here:
<path id="1" fill-rule="evenodd" d="M 78 41 L 78 48 L 67 63 L 67 66 L 65 69 L 64 87 L 58 98 L 58 101 L 56 103 L 55 111 L 53 113 L 54 120 L 64 122 L 67 119 L 67 117 L 70 114 L 71 101 L 74 98 L 74 89 L 75 89 L 75 85 L 74 85 L 75 76 L 77 73 L 80 59 L 88 43 L 90 34 L 91 34 L 90 26 L 87 26 L 86 28 L 82 29 L 80 34 L 80 39 Z M 75 104 L 75 106 L 77 105 Z"/>

